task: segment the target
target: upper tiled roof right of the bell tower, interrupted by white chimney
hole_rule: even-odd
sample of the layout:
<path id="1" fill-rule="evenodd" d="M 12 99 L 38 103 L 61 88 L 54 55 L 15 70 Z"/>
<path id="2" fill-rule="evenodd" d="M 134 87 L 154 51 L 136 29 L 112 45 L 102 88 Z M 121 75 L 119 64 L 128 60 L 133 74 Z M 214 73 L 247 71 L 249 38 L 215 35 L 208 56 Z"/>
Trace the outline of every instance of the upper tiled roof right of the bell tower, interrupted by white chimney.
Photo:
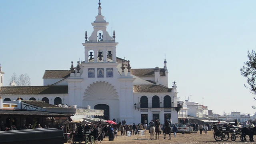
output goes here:
<path id="1" fill-rule="evenodd" d="M 131 74 L 138 77 L 153 77 L 155 76 L 154 68 L 136 68 L 130 70 Z M 160 68 L 160 76 L 165 76 L 164 68 Z"/>

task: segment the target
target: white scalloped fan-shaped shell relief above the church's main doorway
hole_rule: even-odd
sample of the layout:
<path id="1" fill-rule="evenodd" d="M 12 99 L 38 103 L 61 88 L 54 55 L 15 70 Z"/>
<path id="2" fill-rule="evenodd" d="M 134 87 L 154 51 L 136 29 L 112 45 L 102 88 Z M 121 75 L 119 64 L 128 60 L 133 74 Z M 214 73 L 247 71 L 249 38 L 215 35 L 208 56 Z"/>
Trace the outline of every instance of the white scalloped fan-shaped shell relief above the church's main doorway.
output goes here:
<path id="1" fill-rule="evenodd" d="M 118 93 L 112 84 L 100 81 L 93 82 L 84 92 L 85 100 L 116 100 Z"/>

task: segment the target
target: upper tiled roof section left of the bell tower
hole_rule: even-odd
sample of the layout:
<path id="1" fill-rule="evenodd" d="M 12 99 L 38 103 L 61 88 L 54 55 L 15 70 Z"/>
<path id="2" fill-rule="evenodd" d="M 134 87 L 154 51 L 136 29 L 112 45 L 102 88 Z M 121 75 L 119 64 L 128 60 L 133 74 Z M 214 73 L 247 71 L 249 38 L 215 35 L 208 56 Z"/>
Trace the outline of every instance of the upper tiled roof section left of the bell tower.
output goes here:
<path id="1" fill-rule="evenodd" d="M 67 78 L 71 70 L 45 70 L 43 78 Z"/>

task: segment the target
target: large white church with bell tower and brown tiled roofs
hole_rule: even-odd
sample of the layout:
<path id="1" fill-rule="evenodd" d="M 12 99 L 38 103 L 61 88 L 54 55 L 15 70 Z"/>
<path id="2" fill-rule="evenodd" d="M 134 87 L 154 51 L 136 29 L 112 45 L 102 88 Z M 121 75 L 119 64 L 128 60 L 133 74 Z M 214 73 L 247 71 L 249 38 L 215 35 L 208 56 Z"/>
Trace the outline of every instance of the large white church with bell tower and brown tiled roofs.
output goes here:
<path id="1" fill-rule="evenodd" d="M 132 62 L 116 56 L 115 32 L 110 36 L 108 22 L 101 14 L 92 22 L 93 32 L 85 36 L 83 62 L 69 70 L 46 70 L 43 86 L 3 86 L 0 67 L 0 96 L 4 101 L 42 100 L 50 104 L 77 105 L 103 109 L 104 119 L 116 118 L 126 124 L 159 119 L 178 122 L 177 86 L 168 84 L 167 62 L 163 68 L 131 68 Z M 169 88 L 168 85 L 171 87 Z"/>

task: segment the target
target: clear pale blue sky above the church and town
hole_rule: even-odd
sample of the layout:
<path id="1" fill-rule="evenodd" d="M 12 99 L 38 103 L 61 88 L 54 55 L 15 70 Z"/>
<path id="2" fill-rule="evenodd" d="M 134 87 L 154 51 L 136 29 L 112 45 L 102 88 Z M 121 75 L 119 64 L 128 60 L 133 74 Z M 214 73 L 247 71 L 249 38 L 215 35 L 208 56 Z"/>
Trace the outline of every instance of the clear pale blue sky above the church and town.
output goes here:
<path id="1" fill-rule="evenodd" d="M 117 56 L 132 68 L 163 67 L 178 97 L 192 95 L 218 114 L 254 114 L 253 95 L 240 68 L 256 49 L 255 0 L 102 0 L 116 32 Z M 14 72 L 42 85 L 44 70 L 66 70 L 84 60 L 98 0 L 0 0 L 0 63 L 4 84 Z"/>

